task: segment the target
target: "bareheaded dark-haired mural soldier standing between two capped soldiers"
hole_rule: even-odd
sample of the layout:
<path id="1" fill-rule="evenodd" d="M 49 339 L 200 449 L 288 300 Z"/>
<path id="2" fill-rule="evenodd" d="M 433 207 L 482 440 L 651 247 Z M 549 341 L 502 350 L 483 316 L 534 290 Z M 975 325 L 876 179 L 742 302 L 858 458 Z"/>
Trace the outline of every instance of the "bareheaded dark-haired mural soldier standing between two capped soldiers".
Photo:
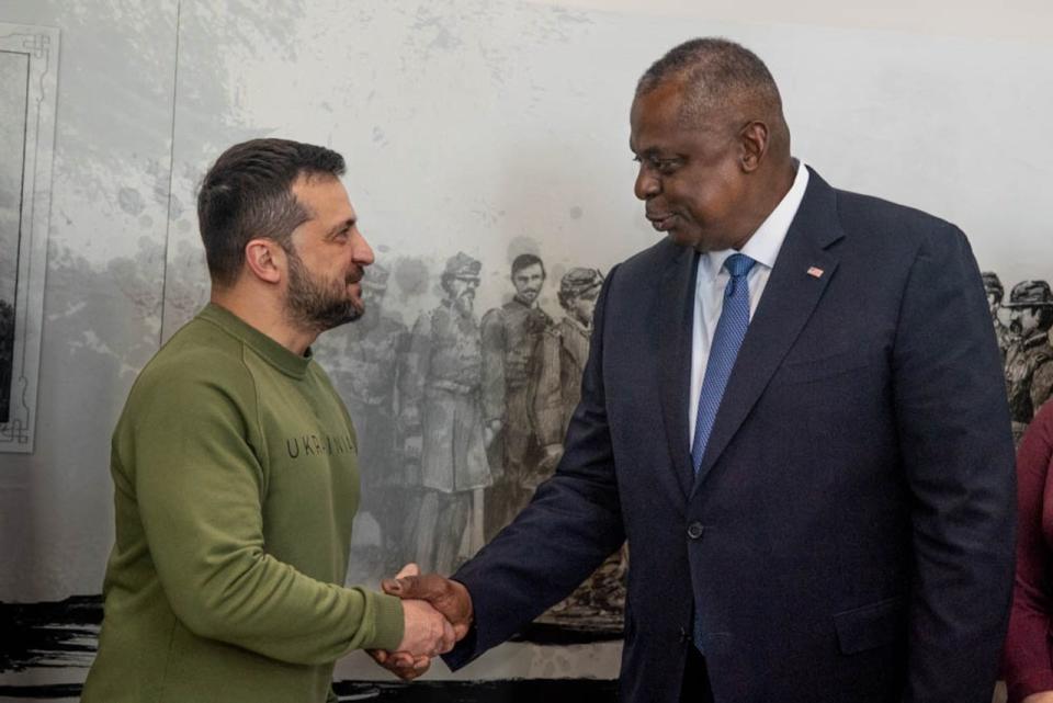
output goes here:
<path id="1" fill-rule="evenodd" d="M 483 417 L 497 479 L 486 491 L 485 535 L 491 540 L 530 502 L 543 476 L 532 417 L 537 352 L 552 318 L 537 304 L 545 264 L 531 253 L 512 261 L 516 295 L 483 316 Z"/>

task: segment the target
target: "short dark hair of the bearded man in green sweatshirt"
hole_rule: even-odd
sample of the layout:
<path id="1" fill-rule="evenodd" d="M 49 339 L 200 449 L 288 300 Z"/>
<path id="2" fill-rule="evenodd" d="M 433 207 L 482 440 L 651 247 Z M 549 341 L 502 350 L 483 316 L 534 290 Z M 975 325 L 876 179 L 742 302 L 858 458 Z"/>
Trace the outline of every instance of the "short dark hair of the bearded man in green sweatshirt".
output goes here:
<path id="1" fill-rule="evenodd" d="M 326 147 L 290 139 L 252 139 L 224 151 L 202 179 L 197 223 L 214 285 L 229 286 L 256 237 L 290 249 L 294 229 L 310 214 L 293 195 L 301 177 L 343 174 L 343 157 Z"/>

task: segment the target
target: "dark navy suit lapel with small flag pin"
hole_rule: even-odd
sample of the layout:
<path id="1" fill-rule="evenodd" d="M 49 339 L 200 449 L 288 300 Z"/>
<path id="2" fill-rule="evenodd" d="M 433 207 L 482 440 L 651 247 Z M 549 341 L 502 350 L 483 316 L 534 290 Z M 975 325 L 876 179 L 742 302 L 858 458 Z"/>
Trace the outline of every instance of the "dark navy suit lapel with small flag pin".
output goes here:
<path id="1" fill-rule="evenodd" d="M 790 347 L 796 340 L 837 269 L 827 247 L 845 236 L 837 218 L 836 194 L 815 171 L 786 233 L 765 294 L 746 331 L 724 390 L 694 489 L 749 415 Z M 818 276 L 809 270 L 818 269 Z"/>

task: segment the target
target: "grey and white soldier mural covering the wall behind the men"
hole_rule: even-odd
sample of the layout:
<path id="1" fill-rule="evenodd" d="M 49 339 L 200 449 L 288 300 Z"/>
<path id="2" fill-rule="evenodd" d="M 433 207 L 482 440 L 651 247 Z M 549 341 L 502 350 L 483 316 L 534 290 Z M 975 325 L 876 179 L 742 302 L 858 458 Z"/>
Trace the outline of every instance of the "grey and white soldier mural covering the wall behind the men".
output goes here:
<path id="1" fill-rule="evenodd" d="M 315 349 L 361 444 L 349 583 L 455 568 L 555 469 L 599 286 L 656 238 L 632 193 L 633 88 L 691 35 L 766 59 L 823 178 L 962 227 L 997 272 L 1015 429 L 1030 421 L 1053 387 L 1053 152 L 1016 125 L 1053 110 L 1049 43 L 603 4 L 0 3 L 0 700 L 79 695 L 113 540 L 110 434 L 207 301 L 196 184 L 247 138 L 342 152 L 376 252 L 369 313 Z M 337 691 L 611 700 L 631 567 L 627 545 L 455 674 L 401 685 L 355 654 Z"/>

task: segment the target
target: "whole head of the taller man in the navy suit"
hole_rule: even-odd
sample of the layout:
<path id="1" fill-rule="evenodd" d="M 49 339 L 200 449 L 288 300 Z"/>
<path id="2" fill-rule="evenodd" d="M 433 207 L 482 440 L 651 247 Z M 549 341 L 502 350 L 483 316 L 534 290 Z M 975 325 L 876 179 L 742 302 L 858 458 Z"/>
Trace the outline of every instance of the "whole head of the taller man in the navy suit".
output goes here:
<path id="1" fill-rule="evenodd" d="M 693 39 L 661 57 L 629 122 L 633 192 L 675 243 L 741 249 L 796 178 L 775 81 L 733 42 Z"/>

